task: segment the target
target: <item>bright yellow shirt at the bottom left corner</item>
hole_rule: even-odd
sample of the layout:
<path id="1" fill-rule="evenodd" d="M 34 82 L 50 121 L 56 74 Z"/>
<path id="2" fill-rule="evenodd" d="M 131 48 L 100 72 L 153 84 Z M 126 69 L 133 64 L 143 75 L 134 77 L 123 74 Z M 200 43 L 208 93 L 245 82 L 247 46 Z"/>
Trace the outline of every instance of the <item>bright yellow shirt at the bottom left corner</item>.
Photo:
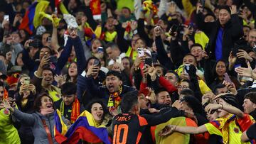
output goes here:
<path id="1" fill-rule="evenodd" d="M 18 131 L 13 125 L 10 117 L 10 111 L 7 109 L 0 110 L 0 144 L 17 144 L 21 143 Z"/>

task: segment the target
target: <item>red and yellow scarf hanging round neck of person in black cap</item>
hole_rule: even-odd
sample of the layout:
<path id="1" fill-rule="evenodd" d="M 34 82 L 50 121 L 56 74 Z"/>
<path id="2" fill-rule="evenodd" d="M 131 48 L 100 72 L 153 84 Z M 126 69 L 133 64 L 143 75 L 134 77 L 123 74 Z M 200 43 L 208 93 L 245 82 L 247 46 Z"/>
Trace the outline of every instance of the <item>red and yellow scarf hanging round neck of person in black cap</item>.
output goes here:
<path id="1" fill-rule="evenodd" d="M 64 102 L 61 101 L 60 103 L 60 112 L 61 115 L 64 116 Z M 80 102 L 78 101 L 78 98 L 75 98 L 75 101 L 72 104 L 72 111 L 71 111 L 71 118 L 70 123 L 75 123 L 75 120 L 80 115 Z"/>

